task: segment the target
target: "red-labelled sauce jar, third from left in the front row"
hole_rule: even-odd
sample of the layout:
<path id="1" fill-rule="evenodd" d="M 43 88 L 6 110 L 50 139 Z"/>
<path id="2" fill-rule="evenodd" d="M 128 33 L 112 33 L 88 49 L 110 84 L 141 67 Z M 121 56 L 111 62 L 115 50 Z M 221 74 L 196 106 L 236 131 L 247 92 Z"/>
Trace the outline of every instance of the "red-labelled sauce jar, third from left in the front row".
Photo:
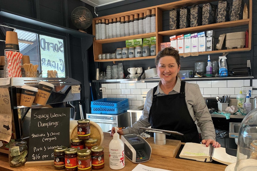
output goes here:
<path id="1" fill-rule="evenodd" d="M 78 150 L 78 171 L 91 171 L 92 170 L 92 159 L 91 150 L 82 149 Z"/>

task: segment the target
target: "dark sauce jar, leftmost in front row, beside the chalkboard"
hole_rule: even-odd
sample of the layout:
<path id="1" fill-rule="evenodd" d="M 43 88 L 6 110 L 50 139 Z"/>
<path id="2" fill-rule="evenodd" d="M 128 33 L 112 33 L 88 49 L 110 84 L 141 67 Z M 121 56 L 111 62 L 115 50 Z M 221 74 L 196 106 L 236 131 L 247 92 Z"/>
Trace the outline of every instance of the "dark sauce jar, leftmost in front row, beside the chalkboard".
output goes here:
<path id="1" fill-rule="evenodd" d="M 67 147 L 61 146 L 54 149 L 54 167 L 55 169 L 64 169 L 65 168 L 65 153 L 64 151 Z"/>

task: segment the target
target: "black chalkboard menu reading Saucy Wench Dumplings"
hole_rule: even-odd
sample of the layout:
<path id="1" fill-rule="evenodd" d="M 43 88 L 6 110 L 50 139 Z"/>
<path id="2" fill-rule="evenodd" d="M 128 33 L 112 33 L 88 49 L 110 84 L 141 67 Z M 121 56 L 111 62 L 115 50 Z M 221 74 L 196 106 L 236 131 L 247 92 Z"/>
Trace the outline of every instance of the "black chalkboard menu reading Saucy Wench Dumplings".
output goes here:
<path id="1" fill-rule="evenodd" d="M 54 160 L 54 148 L 69 147 L 70 108 L 31 110 L 28 161 Z"/>

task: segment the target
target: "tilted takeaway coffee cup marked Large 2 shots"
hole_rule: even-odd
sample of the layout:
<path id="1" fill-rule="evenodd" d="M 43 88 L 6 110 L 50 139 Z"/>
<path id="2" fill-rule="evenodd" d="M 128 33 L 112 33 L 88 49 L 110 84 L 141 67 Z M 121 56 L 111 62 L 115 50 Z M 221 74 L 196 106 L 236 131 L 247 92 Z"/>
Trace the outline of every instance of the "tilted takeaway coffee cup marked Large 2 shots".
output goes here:
<path id="1" fill-rule="evenodd" d="M 54 87 L 55 86 L 51 83 L 48 83 L 46 81 L 40 81 L 38 86 L 38 92 L 35 98 L 35 103 L 45 106 Z"/>

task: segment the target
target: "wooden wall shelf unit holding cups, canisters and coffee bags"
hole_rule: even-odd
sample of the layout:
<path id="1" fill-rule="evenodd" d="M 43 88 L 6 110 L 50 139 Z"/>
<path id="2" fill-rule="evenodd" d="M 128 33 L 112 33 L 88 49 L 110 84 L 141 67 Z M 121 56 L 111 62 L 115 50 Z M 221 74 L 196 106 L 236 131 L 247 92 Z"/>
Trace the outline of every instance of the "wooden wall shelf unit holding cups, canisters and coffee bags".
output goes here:
<path id="1" fill-rule="evenodd" d="M 146 34 L 137 34 L 132 36 L 125 36 L 125 37 L 117 37 L 117 38 L 110 38 L 110 39 L 103 39 L 103 40 L 95 40 L 94 37 L 94 43 L 93 43 L 93 49 L 94 49 L 94 61 L 95 62 L 112 62 L 112 61 L 127 61 L 127 60 L 142 60 L 142 59 L 154 59 L 155 56 L 149 56 L 149 57 L 137 57 L 137 58 L 121 58 L 121 59 L 104 59 L 99 60 L 98 54 L 102 54 L 102 44 L 104 43 L 113 43 L 113 42 L 121 42 L 131 39 L 140 39 L 140 38 L 148 38 L 156 36 L 156 51 L 160 51 L 160 43 L 162 43 L 162 37 L 163 36 L 172 36 L 172 35 L 179 35 L 179 34 L 187 34 L 192 32 L 202 32 L 207 30 L 213 30 L 213 29 L 222 29 L 222 28 L 230 28 L 230 27 L 236 27 L 236 26 L 246 26 L 248 25 L 249 29 L 249 42 L 248 42 L 248 48 L 240 48 L 240 49 L 225 49 L 225 50 L 216 50 L 216 51 L 206 51 L 206 52 L 199 52 L 199 55 L 203 54 L 219 54 L 219 53 L 229 53 L 229 52 L 242 52 L 242 51 L 250 51 L 251 50 L 251 42 L 252 42 L 252 7 L 253 3 L 252 0 L 249 0 L 249 18 L 248 19 L 242 19 L 237 21 L 227 21 L 224 23 L 214 23 L 214 24 L 208 24 L 204 26 L 196 26 L 196 27 L 189 27 L 184 29 L 175 29 L 175 30 L 167 30 L 162 31 L 162 12 L 170 10 L 172 8 L 180 8 L 183 6 L 192 6 L 193 4 L 203 4 L 206 2 L 213 2 L 217 0 L 181 0 L 176 2 L 171 2 L 168 4 L 161 4 L 153 7 L 147 7 L 142 8 L 138 10 L 128 11 L 128 12 L 121 12 L 117 14 L 112 15 L 106 15 L 103 17 L 93 18 L 92 26 L 93 26 L 93 35 L 95 35 L 95 21 L 100 20 L 102 18 L 104 19 L 110 19 L 110 18 L 117 18 L 121 16 L 126 15 L 134 15 L 135 13 L 145 12 L 146 10 L 151 10 L 155 8 L 156 11 L 156 32 L 153 33 L 146 33 Z M 183 56 L 183 54 L 180 54 L 180 56 Z"/>

